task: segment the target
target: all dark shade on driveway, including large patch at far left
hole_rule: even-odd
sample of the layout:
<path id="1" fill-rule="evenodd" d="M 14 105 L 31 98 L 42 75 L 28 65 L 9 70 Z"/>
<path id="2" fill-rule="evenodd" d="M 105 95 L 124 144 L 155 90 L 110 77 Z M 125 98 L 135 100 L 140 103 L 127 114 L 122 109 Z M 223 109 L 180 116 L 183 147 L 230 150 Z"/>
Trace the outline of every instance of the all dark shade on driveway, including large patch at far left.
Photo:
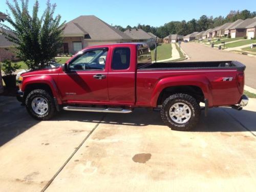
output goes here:
<path id="1" fill-rule="evenodd" d="M 67 121 L 65 123 L 70 123 L 73 127 L 72 121 L 97 123 L 103 116 L 101 123 L 120 125 L 124 129 L 128 127 L 125 125 L 138 126 L 138 129 L 146 129 L 148 125 L 165 126 L 159 112 L 145 109 L 136 109 L 130 114 L 61 111 L 50 121 Z M 255 119 L 256 112 L 253 111 L 236 111 L 229 108 L 212 109 L 209 110 L 208 117 L 204 117 L 202 112 L 198 126 L 191 132 L 254 132 L 256 131 Z M 15 97 L 0 97 L 0 146 L 39 122 L 28 115 L 25 107 L 20 106 Z"/>

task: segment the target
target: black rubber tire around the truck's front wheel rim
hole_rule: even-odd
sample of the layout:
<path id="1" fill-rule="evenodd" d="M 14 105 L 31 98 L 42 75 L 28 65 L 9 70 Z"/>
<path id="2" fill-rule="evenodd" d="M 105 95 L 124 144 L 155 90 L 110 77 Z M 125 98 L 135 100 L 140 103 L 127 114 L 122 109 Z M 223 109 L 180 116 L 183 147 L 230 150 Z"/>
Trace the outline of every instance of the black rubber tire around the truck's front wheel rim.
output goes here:
<path id="1" fill-rule="evenodd" d="M 47 112 L 44 115 L 39 115 L 39 114 L 35 113 L 33 108 L 32 108 L 32 101 L 36 97 L 44 98 L 46 100 L 47 104 L 48 104 L 48 110 L 47 110 Z M 51 94 L 49 94 L 45 90 L 37 89 L 37 90 L 31 91 L 28 94 L 28 96 L 26 97 L 25 105 L 26 105 L 28 113 L 33 118 L 35 118 L 37 120 L 48 120 L 48 119 L 51 119 L 56 114 L 56 112 L 57 112 L 56 108 L 55 108 L 53 97 L 51 96 Z"/>

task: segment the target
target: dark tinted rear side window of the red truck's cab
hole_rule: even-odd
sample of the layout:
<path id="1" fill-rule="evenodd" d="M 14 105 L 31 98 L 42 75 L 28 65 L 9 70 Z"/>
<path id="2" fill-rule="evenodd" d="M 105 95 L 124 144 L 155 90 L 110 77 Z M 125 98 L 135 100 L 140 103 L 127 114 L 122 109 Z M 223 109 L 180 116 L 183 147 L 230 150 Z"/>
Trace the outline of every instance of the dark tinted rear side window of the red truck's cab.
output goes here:
<path id="1" fill-rule="evenodd" d="M 111 68 L 124 70 L 130 67 L 131 51 L 129 48 L 116 48 L 113 53 Z"/>

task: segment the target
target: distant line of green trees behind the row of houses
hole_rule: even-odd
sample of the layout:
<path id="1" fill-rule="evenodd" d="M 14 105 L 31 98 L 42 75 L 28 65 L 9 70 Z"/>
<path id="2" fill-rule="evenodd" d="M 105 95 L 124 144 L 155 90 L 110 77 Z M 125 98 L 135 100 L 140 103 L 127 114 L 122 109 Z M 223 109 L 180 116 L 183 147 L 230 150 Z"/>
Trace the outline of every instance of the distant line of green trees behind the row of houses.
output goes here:
<path id="1" fill-rule="evenodd" d="M 138 24 L 137 26 L 131 27 L 127 26 L 126 28 L 123 28 L 121 26 L 115 26 L 121 31 L 125 31 L 127 29 L 142 29 L 146 32 L 152 32 L 158 37 L 164 38 L 169 34 L 179 34 L 179 35 L 187 35 L 193 32 L 200 32 L 205 31 L 207 29 L 212 29 L 218 26 L 221 26 L 227 22 L 234 22 L 237 19 L 247 19 L 247 18 L 253 18 L 256 16 L 256 12 L 250 12 L 248 10 L 243 11 L 230 11 L 230 13 L 224 17 L 224 16 L 218 16 L 218 17 L 208 17 L 206 15 L 202 15 L 199 19 L 191 19 L 188 22 L 185 20 L 182 20 L 181 22 L 172 21 L 169 23 L 164 24 L 160 27 L 153 27 L 150 25 L 141 25 Z"/>

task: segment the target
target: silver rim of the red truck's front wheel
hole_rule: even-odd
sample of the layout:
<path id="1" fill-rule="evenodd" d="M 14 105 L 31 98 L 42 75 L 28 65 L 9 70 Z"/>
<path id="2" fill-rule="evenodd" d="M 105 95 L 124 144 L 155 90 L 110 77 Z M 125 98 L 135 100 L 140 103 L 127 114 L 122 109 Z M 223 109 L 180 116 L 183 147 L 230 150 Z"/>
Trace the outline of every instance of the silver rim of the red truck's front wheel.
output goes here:
<path id="1" fill-rule="evenodd" d="M 32 109 L 38 115 L 45 115 L 48 112 L 49 105 L 45 98 L 35 97 L 32 100 Z"/>

